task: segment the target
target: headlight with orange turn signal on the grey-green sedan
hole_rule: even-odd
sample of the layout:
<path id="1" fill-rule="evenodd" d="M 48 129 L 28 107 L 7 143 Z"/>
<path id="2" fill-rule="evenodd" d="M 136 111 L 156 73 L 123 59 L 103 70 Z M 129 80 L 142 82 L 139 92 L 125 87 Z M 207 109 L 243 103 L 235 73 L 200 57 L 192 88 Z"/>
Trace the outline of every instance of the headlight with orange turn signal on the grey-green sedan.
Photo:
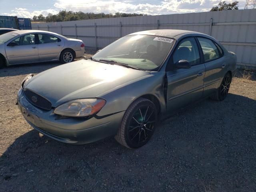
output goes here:
<path id="1" fill-rule="evenodd" d="M 84 117 L 96 114 L 106 104 L 104 99 L 77 99 L 58 106 L 54 113 L 63 116 Z"/>

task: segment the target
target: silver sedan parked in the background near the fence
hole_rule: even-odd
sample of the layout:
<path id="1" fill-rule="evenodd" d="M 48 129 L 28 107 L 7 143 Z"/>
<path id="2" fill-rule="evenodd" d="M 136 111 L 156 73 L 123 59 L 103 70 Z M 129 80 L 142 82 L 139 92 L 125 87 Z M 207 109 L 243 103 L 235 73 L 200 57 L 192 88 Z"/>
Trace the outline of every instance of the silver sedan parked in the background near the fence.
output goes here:
<path id="1" fill-rule="evenodd" d="M 0 68 L 14 64 L 60 60 L 84 55 L 84 42 L 40 30 L 20 30 L 0 35 Z"/>

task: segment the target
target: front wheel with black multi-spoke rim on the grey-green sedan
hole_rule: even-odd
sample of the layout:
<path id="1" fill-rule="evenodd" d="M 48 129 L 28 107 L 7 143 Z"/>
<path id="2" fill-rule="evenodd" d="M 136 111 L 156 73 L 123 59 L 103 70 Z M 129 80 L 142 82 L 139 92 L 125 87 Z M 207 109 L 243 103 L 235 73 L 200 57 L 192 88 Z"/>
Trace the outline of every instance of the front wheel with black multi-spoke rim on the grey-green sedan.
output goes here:
<path id="1" fill-rule="evenodd" d="M 150 140 L 156 120 L 157 110 L 154 103 L 139 98 L 126 110 L 115 139 L 127 148 L 139 148 Z"/>

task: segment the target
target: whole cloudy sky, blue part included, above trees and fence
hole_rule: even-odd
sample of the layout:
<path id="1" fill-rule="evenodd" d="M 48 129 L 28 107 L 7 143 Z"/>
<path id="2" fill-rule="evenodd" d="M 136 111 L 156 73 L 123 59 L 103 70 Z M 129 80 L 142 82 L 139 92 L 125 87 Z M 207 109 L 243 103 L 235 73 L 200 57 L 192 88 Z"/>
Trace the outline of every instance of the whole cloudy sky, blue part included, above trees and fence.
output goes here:
<path id="1" fill-rule="evenodd" d="M 235 0 L 226 0 L 227 3 Z M 246 0 L 238 0 L 243 9 Z M 57 14 L 60 10 L 94 13 L 137 13 L 149 15 L 207 12 L 220 0 L 0 0 L 0 15 L 32 18 Z"/>

